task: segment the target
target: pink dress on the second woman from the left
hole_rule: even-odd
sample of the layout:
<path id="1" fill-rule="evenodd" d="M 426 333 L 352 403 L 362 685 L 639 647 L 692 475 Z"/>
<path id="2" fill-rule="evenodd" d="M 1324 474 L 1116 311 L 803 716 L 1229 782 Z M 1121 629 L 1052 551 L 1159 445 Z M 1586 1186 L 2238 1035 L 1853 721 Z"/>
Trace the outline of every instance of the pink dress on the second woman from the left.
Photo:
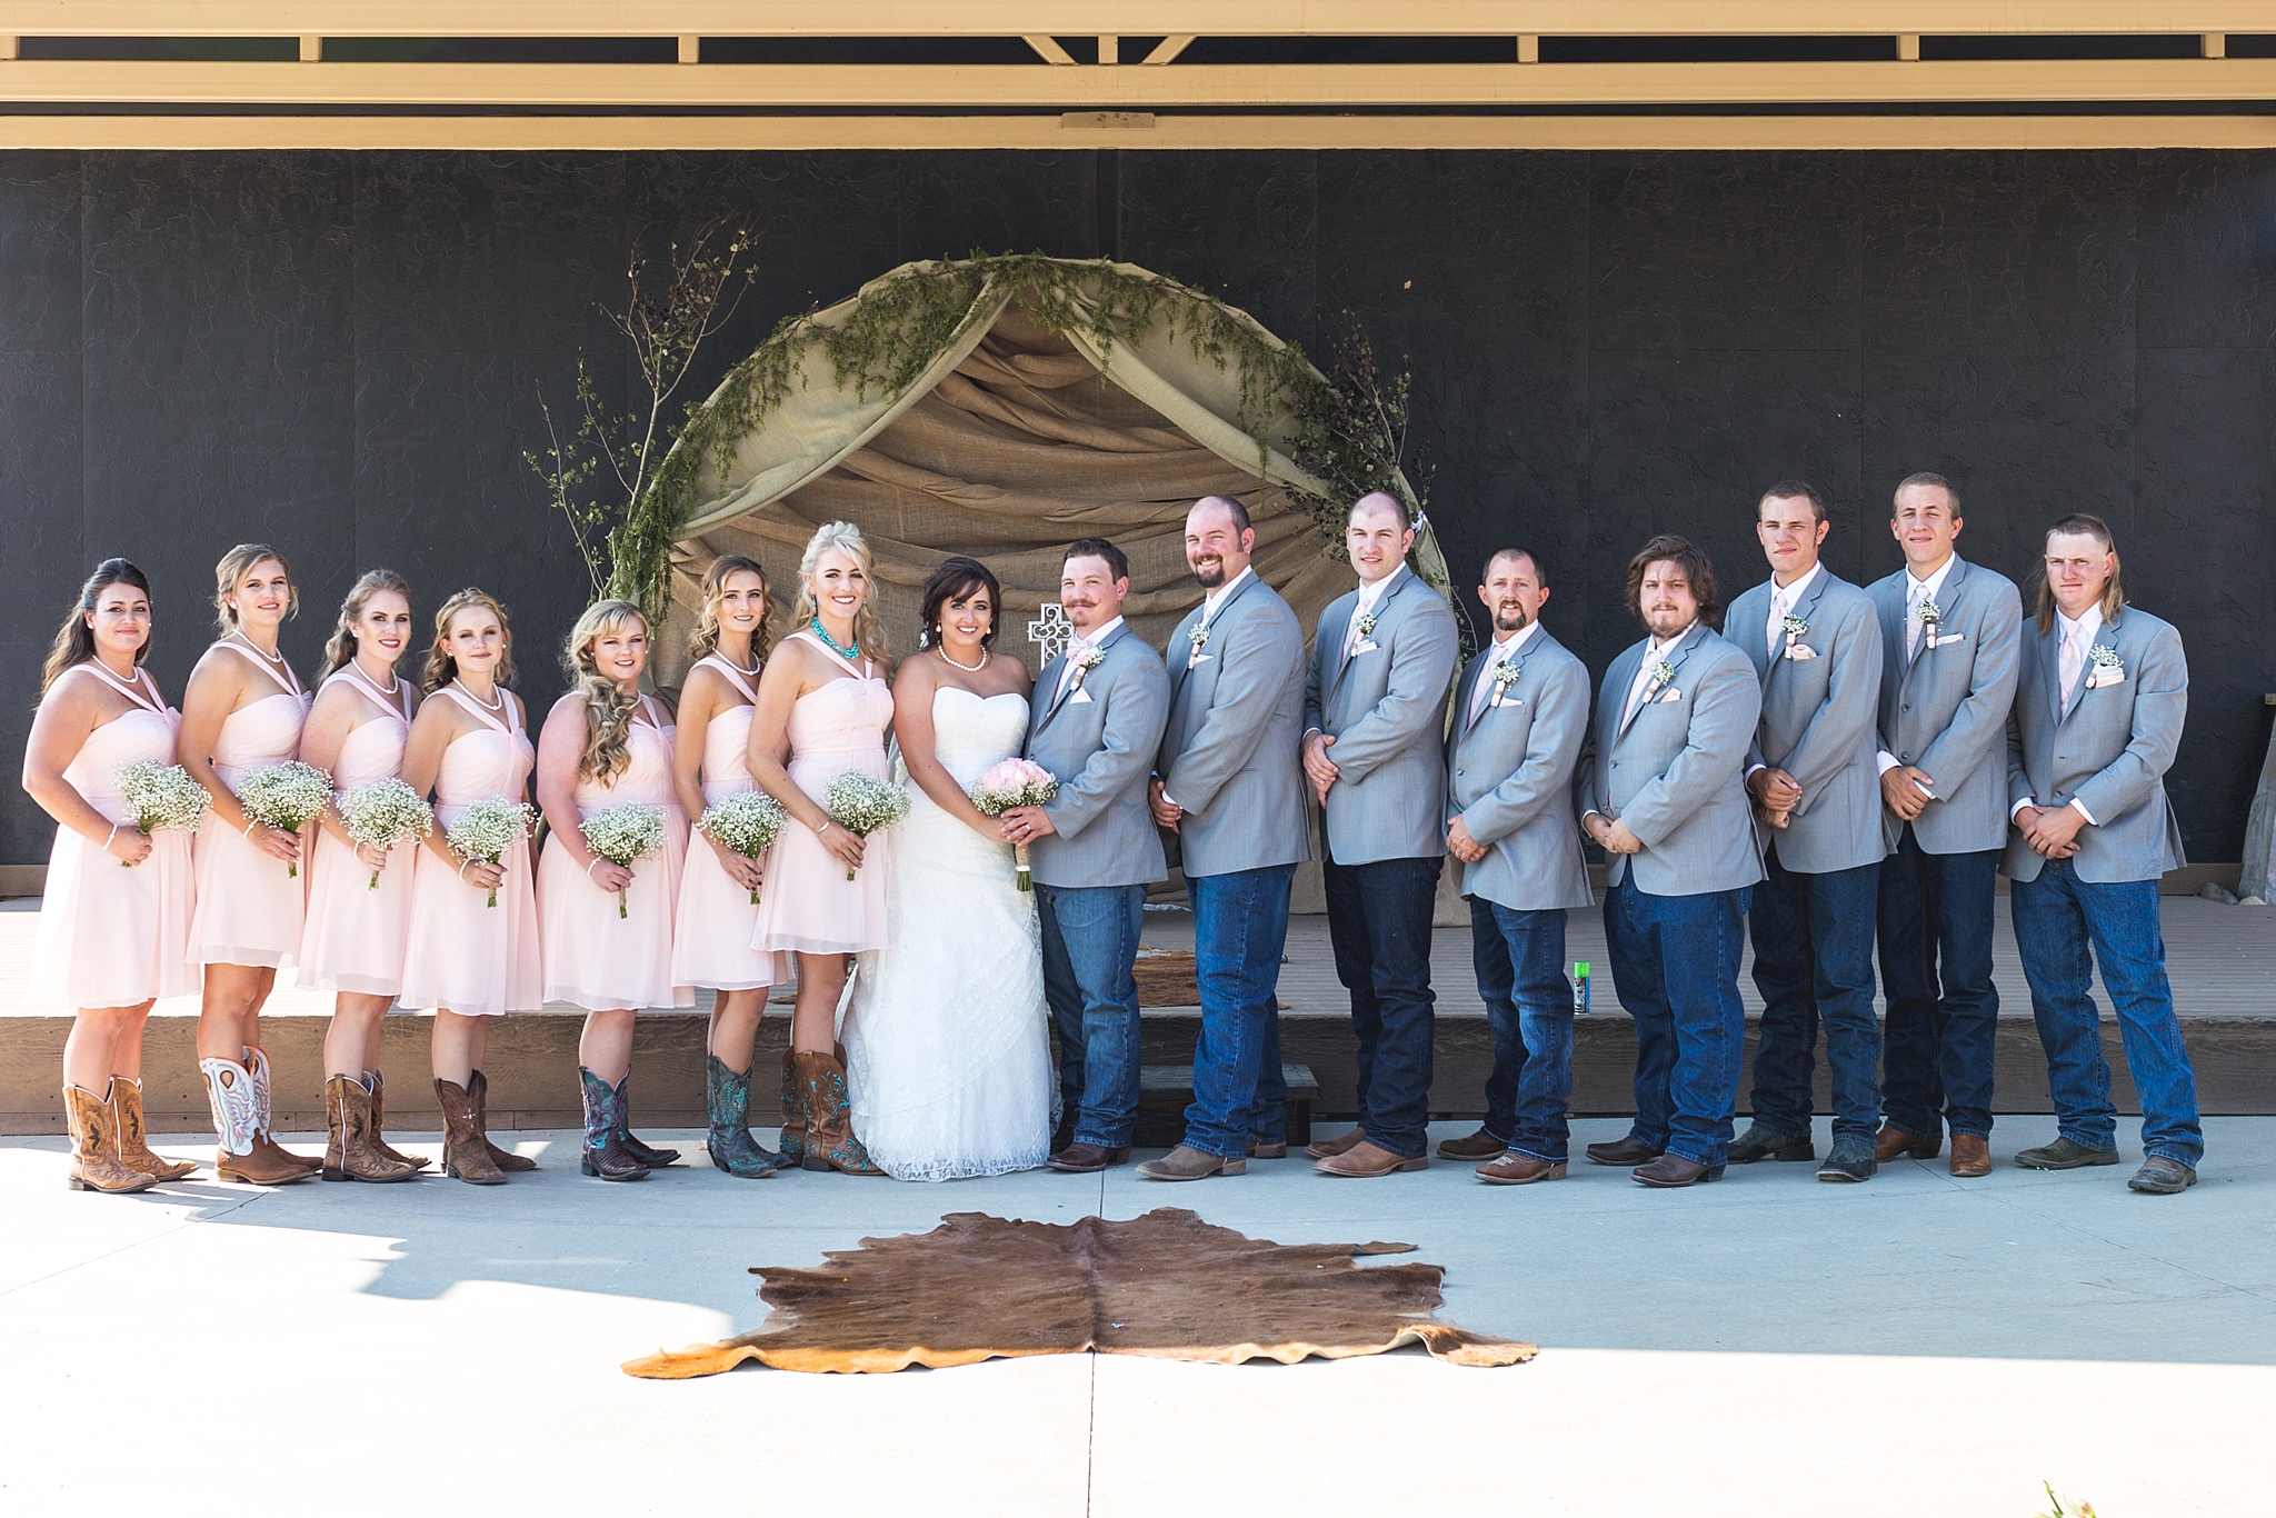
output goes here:
<path id="1" fill-rule="evenodd" d="M 282 678 L 289 685 L 246 701 L 221 719 L 212 753 L 214 774 L 234 792 L 255 769 L 282 765 L 300 753 L 300 724 L 307 721 L 310 694 L 291 667 L 269 665 L 244 644 L 214 646 L 244 655 L 266 678 Z M 189 958 L 198 965 L 269 970 L 291 963 L 307 915 L 307 869 L 294 874 L 287 860 L 255 844 L 218 812 L 207 812 L 198 826 L 193 858 L 198 910 L 189 922 Z"/>

